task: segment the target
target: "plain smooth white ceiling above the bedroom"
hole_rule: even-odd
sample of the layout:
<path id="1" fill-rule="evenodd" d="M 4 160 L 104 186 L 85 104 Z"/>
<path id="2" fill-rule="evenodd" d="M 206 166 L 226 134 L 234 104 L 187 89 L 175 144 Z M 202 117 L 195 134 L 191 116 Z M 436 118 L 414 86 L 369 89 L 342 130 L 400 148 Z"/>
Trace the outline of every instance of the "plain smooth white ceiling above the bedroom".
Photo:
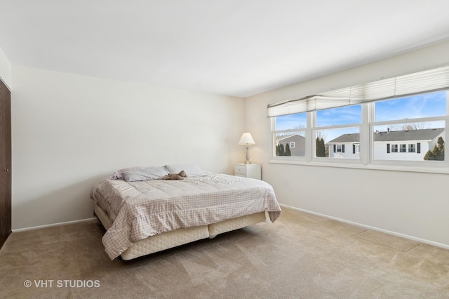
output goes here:
<path id="1" fill-rule="evenodd" d="M 248 97 L 448 40 L 448 11 L 448 0 L 0 0 L 0 48 L 13 65 Z"/>

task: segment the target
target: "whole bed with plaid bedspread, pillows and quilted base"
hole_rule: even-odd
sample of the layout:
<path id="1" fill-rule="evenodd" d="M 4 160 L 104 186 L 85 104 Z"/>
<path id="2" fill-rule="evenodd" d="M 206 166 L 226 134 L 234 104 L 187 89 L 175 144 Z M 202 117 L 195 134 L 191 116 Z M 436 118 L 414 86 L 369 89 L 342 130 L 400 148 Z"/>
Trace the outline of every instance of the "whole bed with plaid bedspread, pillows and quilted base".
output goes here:
<path id="1" fill-rule="evenodd" d="M 186 170 L 182 180 L 162 179 Z M 94 213 L 112 260 L 138 258 L 281 214 L 267 182 L 207 173 L 189 164 L 126 168 L 91 190 Z"/>

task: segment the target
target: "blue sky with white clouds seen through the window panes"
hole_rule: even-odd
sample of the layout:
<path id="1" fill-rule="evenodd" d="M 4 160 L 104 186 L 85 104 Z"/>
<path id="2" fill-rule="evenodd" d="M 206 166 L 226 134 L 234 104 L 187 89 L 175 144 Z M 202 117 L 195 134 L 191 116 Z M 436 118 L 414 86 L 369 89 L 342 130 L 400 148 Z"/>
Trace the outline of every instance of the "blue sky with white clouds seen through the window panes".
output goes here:
<path id="1" fill-rule="evenodd" d="M 446 91 L 413 95 L 406 98 L 384 100 L 375 103 L 375 121 L 392 121 L 415 119 L 420 117 L 438 117 L 446 114 Z M 318 126 L 351 125 L 361 123 L 361 105 L 324 109 L 316 112 Z M 414 123 L 411 121 L 411 123 Z M 276 130 L 305 128 L 307 126 L 307 113 L 290 114 L 276 117 Z M 392 126 L 398 129 L 401 125 Z M 442 128 L 444 121 L 427 122 L 420 124 L 422 128 Z M 387 131 L 388 126 L 375 126 L 375 130 Z M 340 128 L 320 131 L 326 142 L 337 138 L 344 133 L 358 133 L 358 128 Z"/>

